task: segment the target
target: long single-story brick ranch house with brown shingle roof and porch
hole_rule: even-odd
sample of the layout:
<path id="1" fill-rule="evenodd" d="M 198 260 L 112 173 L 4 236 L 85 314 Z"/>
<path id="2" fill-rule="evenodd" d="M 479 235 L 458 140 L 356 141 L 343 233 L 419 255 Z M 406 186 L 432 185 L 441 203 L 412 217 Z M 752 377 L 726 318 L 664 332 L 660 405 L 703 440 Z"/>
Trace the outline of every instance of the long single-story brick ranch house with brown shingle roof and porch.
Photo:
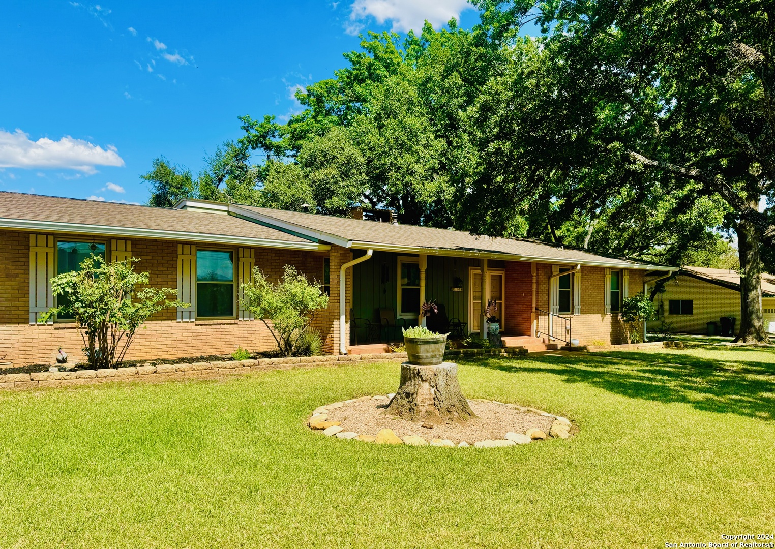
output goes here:
<path id="1" fill-rule="evenodd" d="M 361 341 L 387 340 L 395 335 L 381 329 L 381 314 L 417 324 L 424 300 L 443 304 L 465 333 L 484 333 L 483 304 L 496 300 L 506 345 L 541 341 L 536 335 L 625 343 L 622 300 L 644 290 L 647 271 L 674 270 L 526 239 L 240 204 L 149 208 L 8 192 L 0 192 L 0 244 L 0 362 L 13 365 L 53 362 L 59 347 L 77 355 L 72 321 L 37 319 L 56 303 L 49 280 L 90 253 L 140 259 L 136 269 L 153 287 L 177 288 L 191 303 L 154 315 L 127 360 L 273 349 L 263 322 L 239 307 L 253 266 L 279 280 L 292 265 L 325 286 L 329 307 L 313 325 L 332 354 L 359 337 L 350 311 L 380 328 L 360 331 Z"/>

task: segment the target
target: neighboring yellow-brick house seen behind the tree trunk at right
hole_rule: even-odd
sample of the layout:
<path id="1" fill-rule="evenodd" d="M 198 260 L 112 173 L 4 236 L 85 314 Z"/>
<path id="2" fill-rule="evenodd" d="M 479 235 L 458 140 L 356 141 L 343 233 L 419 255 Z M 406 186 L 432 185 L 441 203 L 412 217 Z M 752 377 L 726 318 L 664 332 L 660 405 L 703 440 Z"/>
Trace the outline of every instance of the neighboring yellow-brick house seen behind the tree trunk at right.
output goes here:
<path id="1" fill-rule="evenodd" d="M 649 283 L 653 287 L 653 283 Z M 681 267 L 677 276 L 665 283 L 664 293 L 655 304 L 660 317 L 672 330 L 687 334 L 707 334 L 708 322 L 720 325 L 721 317 L 734 317 L 735 332 L 740 325 L 740 275 L 729 269 Z M 764 328 L 775 333 L 775 276 L 762 275 Z M 649 330 L 660 326 L 649 323 Z"/>

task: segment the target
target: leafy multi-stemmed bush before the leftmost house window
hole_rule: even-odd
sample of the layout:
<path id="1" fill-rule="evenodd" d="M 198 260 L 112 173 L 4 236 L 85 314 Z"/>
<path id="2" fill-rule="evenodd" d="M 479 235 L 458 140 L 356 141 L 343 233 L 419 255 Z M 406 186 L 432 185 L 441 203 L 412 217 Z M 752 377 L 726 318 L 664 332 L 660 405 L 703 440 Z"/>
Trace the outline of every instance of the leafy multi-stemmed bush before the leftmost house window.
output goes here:
<path id="1" fill-rule="evenodd" d="M 46 322 L 58 314 L 74 318 L 84 341 L 84 354 L 94 368 L 110 368 L 121 362 L 132 343 L 137 328 L 148 318 L 167 307 L 188 307 L 174 288 L 143 288 L 148 273 L 135 273 L 133 262 L 140 259 L 106 262 L 91 255 L 81 262 L 78 271 L 62 273 L 51 279 L 55 296 L 67 295 L 65 304 L 53 307 L 40 316 Z"/>

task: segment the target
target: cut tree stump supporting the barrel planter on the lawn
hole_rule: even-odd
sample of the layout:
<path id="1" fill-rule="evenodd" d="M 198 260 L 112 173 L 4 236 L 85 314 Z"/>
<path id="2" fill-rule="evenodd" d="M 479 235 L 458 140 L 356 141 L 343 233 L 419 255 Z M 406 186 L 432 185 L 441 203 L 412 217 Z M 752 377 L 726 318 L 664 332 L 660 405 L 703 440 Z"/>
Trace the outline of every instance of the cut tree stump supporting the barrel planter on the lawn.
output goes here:
<path id="1" fill-rule="evenodd" d="M 457 365 L 401 364 L 401 385 L 385 410 L 408 420 L 457 420 L 476 417 L 457 383 Z"/>

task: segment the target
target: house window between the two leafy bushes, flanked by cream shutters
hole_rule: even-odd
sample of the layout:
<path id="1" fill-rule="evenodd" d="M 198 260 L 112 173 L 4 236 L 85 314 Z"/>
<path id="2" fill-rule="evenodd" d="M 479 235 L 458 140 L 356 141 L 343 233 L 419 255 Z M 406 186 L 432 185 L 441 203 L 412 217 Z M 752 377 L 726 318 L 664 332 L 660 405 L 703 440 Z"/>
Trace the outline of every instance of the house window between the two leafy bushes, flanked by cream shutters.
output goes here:
<path id="1" fill-rule="evenodd" d="M 234 317 L 234 254 L 196 251 L 197 318 Z"/>

